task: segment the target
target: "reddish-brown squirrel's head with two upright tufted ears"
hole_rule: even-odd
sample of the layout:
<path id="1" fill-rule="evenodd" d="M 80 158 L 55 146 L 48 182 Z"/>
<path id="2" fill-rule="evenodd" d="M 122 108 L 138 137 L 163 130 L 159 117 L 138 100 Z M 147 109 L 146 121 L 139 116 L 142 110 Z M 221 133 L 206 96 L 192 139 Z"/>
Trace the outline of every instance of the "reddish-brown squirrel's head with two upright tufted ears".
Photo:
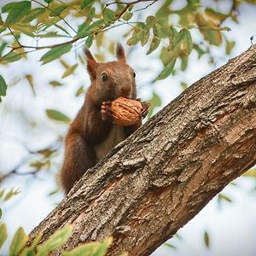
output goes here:
<path id="1" fill-rule="evenodd" d="M 125 51 L 117 44 L 117 61 L 97 62 L 89 49 L 84 49 L 91 85 L 101 102 L 113 101 L 119 96 L 136 97 L 136 82 L 133 69 L 126 64 Z"/>

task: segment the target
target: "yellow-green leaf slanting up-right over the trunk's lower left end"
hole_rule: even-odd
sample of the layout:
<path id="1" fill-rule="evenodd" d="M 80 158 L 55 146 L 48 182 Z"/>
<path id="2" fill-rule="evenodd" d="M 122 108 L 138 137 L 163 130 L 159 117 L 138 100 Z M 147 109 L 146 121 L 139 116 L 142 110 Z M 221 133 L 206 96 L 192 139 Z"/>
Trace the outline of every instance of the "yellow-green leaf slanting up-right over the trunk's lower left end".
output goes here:
<path id="1" fill-rule="evenodd" d="M 38 256 L 49 255 L 50 252 L 61 247 L 71 236 L 72 225 L 67 225 L 61 230 L 57 230 L 52 236 L 49 236 L 47 241 L 38 246 Z"/>

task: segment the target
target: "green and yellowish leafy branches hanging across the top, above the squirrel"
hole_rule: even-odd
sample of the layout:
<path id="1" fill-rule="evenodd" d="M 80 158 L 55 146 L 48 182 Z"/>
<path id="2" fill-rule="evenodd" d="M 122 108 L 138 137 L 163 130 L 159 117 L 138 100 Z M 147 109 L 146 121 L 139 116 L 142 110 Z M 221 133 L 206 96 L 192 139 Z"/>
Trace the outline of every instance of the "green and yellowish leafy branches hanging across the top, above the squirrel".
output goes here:
<path id="1" fill-rule="evenodd" d="M 96 11 L 97 2 L 100 3 L 101 9 Z M 239 3 L 236 3 L 236 6 L 232 6 L 229 12 L 223 13 L 218 9 L 205 6 L 201 1 L 187 1 L 182 9 L 173 9 L 172 1 L 166 0 L 162 1 L 155 13 L 147 16 L 141 15 L 143 19 L 137 14 L 143 13 L 149 5 L 154 3 L 149 3 L 145 8 L 137 10 L 133 9 L 133 6 L 138 1 L 135 1 L 134 5 L 133 2 L 109 4 L 104 1 L 91 0 L 73 0 L 68 4 L 50 0 L 35 5 L 34 3 L 37 1 L 13 1 L 2 7 L 2 13 L 8 15 L 4 19 L 0 18 L 2 25 L 0 64 L 26 58 L 26 53 L 30 52 L 28 49 L 32 51 L 49 49 L 40 58 L 40 61 L 46 64 L 70 52 L 74 43 L 84 42 L 87 47 L 90 47 L 99 35 L 103 35 L 109 29 L 114 29 L 115 26 L 130 26 L 131 31 L 123 35 L 127 38 L 128 45 L 148 44 L 148 55 L 160 48 L 160 60 L 165 67 L 158 79 L 166 79 L 172 73 L 175 60 L 187 58 L 193 49 L 198 52 L 200 50 L 200 56 L 209 53 L 209 50 L 200 49 L 198 44 L 193 44 L 190 29 L 198 29 L 206 44 L 220 46 L 224 38 L 223 31 L 229 30 L 222 24 L 230 17 L 236 20 L 236 9 L 239 6 Z M 176 24 L 171 23 L 173 15 L 177 15 Z M 67 22 L 67 20 L 77 18 L 82 18 L 84 22 L 80 24 L 73 21 Z M 177 31 L 175 27 L 181 29 Z M 4 39 L 7 36 L 12 38 L 8 42 Z M 26 37 L 35 38 L 35 40 L 37 38 L 37 46 L 21 44 L 20 40 Z M 40 38 L 48 37 L 56 39 L 64 37 L 65 39 L 63 38 L 60 43 L 56 44 L 40 44 Z M 226 54 L 230 54 L 235 43 L 226 37 L 224 39 Z M 102 43 L 99 44 L 97 41 L 96 44 L 100 47 Z M 185 63 L 183 61 L 182 70 L 186 69 Z M 67 72 L 64 77 L 72 73 L 73 70 Z M 2 87 L 3 85 L 0 89 Z M 3 92 L 1 95 L 4 96 Z"/>

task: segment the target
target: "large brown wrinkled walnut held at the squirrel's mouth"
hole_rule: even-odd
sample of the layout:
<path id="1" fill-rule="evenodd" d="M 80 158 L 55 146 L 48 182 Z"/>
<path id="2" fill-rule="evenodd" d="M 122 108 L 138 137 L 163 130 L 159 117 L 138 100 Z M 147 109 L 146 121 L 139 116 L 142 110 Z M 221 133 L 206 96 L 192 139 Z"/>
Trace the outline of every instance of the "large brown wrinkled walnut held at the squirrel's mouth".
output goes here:
<path id="1" fill-rule="evenodd" d="M 148 107 L 147 102 L 119 97 L 111 102 L 113 122 L 122 126 L 135 125 L 140 119 L 143 119 Z"/>

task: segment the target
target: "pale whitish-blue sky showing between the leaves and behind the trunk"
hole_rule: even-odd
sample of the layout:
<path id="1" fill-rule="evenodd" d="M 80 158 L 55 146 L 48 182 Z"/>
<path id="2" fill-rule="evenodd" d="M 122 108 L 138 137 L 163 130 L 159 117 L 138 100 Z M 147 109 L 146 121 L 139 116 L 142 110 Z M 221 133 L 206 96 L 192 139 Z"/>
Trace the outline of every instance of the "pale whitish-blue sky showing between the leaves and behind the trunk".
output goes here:
<path id="1" fill-rule="evenodd" d="M 0 1 L 0 5 L 6 1 Z M 240 12 L 240 23 L 225 23 L 230 26 L 231 32 L 225 32 L 230 39 L 236 41 L 236 47 L 231 55 L 234 57 L 241 54 L 250 46 L 249 38 L 256 34 L 256 7 L 244 6 Z M 119 41 L 118 33 L 110 33 L 110 36 Z M 122 42 L 124 43 L 124 42 Z M 254 40 L 255 43 L 255 40 Z M 32 42 L 28 42 L 32 44 Z M 126 51 L 128 47 L 125 46 Z M 93 50 L 92 50 L 93 51 Z M 139 96 L 147 99 L 151 93 L 151 88 L 145 84 L 159 73 L 162 66 L 160 61 L 151 55 L 146 55 L 146 49 L 136 47 L 128 58 L 128 63 L 134 67 L 137 73 L 137 84 Z M 155 53 L 155 55 L 157 52 Z M 219 57 L 218 66 L 223 65 L 228 58 L 221 56 L 218 49 L 216 55 Z M 113 56 L 111 56 L 113 58 Z M 76 61 L 69 57 L 70 64 Z M 139 61 L 138 61 L 139 60 Z M 171 102 L 182 90 L 180 81 L 192 84 L 212 71 L 212 67 L 207 65 L 204 57 L 198 61 L 197 55 L 192 53 L 191 65 L 186 72 L 186 77 L 181 73 L 179 77 L 169 78 L 154 84 L 154 89 L 163 97 L 163 106 Z M 64 80 L 65 87 L 58 89 L 49 85 L 51 79 L 59 77 L 63 73 L 63 68 L 56 62 L 49 65 L 40 66 L 38 55 L 30 55 L 29 61 L 15 62 L 9 67 L 1 67 L 1 74 L 9 82 L 10 78 L 20 77 L 27 73 L 33 73 L 36 77 L 37 97 L 32 96 L 32 90 L 26 82 L 18 82 L 15 88 L 9 88 L 8 95 L 4 102 L 0 104 L 0 168 L 3 172 L 8 172 L 14 168 L 20 160 L 26 158 L 27 151 L 22 146 L 26 142 L 29 148 L 44 148 L 55 141 L 56 130 L 60 135 L 65 135 L 67 126 L 55 125 L 47 119 L 44 110 L 55 108 L 74 117 L 81 104 L 83 97 L 75 97 L 76 91 L 81 84 L 88 86 L 89 78 L 84 67 L 79 67 L 78 72 L 73 77 Z M 70 85 L 72 84 L 72 86 Z M 20 110 L 20 113 L 19 113 Z M 16 115 L 9 113 L 15 112 Z M 21 112 L 26 113 L 25 116 Z M 21 120 L 22 125 L 16 125 L 14 117 Z M 40 120 L 38 126 L 31 129 L 26 122 Z M 18 123 L 20 124 L 20 123 Z M 40 135 L 40 136 L 38 136 Z M 62 155 L 60 155 L 60 159 Z M 57 168 L 56 168 L 57 169 Z M 57 170 L 56 170 L 57 171 Z M 27 233 L 32 230 L 47 214 L 55 207 L 55 203 L 61 200 L 61 195 L 48 197 L 49 192 L 55 189 L 55 174 L 42 172 L 37 177 L 16 177 L 7 179 L 1 187 L 20 188 L 20 195 L 8 201 L 3 206 L 3 222 L 8 224 L 9 239 L 19 226 L 23 226 Z M 217 200 L 212 200 L 189 224 L 179 231 L 183 237 L 182 241 L 177 238 L 170 242 L 177 246 L 177 250 L 167 247 L 160 247 L 154 256 L 254 256 L 256 255 L 256 192 L 250 192 L 255 187 L 255 181 L 246 177 L 238 179 L 238 187 L 227 187 L 223 193 L 229 195 L 234 200 L 232 204 L 224 203 L 222 208 L 218 208 Z M 211 236 L 211 247 L 204 246 L 203 232 L 207 230 Z M 6 255 L 8 243 L 3 248 L 1 255 Z"/>

